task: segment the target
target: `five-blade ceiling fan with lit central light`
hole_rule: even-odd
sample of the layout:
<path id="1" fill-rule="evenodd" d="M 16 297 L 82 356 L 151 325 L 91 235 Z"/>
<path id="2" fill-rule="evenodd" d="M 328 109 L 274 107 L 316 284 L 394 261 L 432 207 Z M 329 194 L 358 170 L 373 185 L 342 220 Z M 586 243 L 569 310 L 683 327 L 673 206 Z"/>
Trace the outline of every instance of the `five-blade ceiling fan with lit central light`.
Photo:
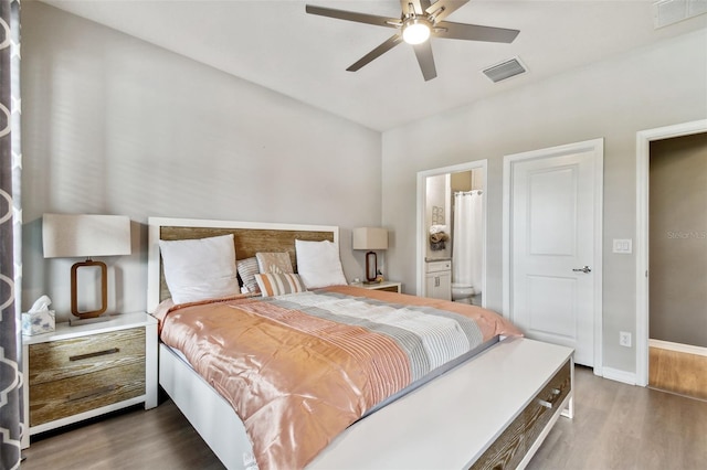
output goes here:
<path id="1" fill-rule="evenodd" d="M 429 41 L 430 38 L 510 43 L 520 32 L 505 28 L 443 21 L 467 2 L 468 0 L 437 0 L 434 3 L 430 0 L 400 0 L 400 7 L 402 9 L 400 18 L 378 17 L 374 14 L 336 10 L 310 4 L 306 6 L 305 10 L 309 14 L 398 30 L 395 34 L 362 56 L 348 67 L 347 71 L 356 72 L 401 42 L 407 42 L 414 49 L 418 63 L 422 70 L 422 76 L 426 82 L 437 76 L 434 57 L 432 56 L 432 46 Z"/>

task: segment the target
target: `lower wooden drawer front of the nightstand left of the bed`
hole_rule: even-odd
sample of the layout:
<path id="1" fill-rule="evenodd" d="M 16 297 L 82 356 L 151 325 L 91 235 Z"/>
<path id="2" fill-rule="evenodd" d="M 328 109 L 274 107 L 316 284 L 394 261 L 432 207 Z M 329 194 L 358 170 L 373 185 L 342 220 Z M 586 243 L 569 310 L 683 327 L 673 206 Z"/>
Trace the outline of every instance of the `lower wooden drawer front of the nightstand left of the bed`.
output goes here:
<path id="1" fill-rule="evenodd" d="M 30 386 L 30 426 L 145 395 L 145 362 Z"/>

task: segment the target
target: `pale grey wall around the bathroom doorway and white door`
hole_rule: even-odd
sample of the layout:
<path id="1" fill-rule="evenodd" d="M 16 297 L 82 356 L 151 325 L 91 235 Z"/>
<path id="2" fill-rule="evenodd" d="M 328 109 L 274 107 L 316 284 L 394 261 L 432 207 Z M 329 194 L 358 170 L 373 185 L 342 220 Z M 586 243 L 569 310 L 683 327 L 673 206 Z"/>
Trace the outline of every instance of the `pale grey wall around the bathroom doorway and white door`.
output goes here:
<path id="1" fill-rule="evenodd" d="M 603 137 L 603 365 L 635 372 L 635 349 L 619 346 L 619 331 L 635 334 L 635 258 L 611 241 L 635 238 L 636 132 L 706 116 L 703 30 L 384 132 L 389 277 L 414 290 L 416 173 L 488 159 L 487 306 L 500 311 L 503 157 Z"/>

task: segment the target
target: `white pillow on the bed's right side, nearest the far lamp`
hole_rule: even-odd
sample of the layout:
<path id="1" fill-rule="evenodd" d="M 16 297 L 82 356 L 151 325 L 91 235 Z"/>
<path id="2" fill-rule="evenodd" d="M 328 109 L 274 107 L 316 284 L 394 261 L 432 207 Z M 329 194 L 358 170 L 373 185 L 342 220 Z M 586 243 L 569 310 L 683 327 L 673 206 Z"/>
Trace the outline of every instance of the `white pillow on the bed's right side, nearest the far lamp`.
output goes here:
<path id="1" fill-rule="evenodd" d="M 339 259 L 339 247 L 329 241 L 295 241 L 297 274 L 307 289 L 345 286 L 346 277 Z"/>

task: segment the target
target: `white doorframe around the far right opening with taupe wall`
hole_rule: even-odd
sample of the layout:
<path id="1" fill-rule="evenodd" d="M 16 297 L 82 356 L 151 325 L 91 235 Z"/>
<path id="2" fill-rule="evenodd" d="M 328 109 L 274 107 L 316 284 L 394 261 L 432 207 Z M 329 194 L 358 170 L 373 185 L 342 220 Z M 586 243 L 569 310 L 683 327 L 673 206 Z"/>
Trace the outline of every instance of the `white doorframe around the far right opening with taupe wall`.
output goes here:
<path id="1" fill-rule="evenodd" d="M 707 132 L 707 119 L 636 132 L 636 385 L 648 385 L 648 171 L 651 142 Z"/>

